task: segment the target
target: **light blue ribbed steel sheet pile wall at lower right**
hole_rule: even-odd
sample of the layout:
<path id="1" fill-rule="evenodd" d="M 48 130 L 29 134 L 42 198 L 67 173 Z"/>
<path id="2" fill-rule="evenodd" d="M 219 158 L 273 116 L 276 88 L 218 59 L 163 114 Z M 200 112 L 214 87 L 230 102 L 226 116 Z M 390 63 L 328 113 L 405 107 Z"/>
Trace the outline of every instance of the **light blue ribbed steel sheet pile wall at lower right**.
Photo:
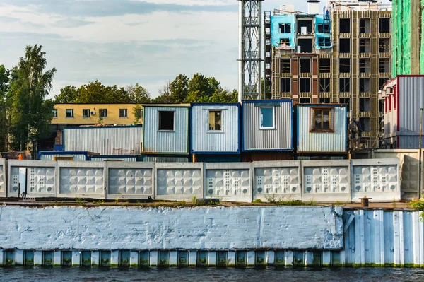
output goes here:
<path id="1" fill-rule="evenodd" d="M 419 211 L 345 211 L 346 266 L 424 267 Z"/>

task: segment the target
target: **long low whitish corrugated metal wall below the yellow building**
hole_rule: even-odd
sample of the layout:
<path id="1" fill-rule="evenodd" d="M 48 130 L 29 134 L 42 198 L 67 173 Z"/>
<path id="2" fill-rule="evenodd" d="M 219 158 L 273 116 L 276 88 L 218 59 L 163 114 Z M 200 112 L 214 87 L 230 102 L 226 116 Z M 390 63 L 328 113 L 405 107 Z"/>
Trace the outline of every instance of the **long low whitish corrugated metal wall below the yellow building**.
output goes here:
<path id="1" fill-rule="evenodd" d="M 142 127 L 78 127 L 64 129 L 64 150 L 100 155 L 139 155 Z"/>

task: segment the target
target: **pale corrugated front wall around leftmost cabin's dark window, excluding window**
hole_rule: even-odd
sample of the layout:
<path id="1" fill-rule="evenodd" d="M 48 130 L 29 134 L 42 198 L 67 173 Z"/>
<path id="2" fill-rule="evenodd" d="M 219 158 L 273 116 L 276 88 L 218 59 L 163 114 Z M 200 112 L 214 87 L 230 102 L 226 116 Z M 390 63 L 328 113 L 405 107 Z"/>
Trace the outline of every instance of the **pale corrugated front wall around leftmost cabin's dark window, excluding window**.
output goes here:
<path id="1" fill-rule="evenodd" d="M 175 111 L 174 131 L 158 131 L 159 111 Z M 189 153 L 189 108 L 144 107 L 144 143 L 146 153 Z"/>

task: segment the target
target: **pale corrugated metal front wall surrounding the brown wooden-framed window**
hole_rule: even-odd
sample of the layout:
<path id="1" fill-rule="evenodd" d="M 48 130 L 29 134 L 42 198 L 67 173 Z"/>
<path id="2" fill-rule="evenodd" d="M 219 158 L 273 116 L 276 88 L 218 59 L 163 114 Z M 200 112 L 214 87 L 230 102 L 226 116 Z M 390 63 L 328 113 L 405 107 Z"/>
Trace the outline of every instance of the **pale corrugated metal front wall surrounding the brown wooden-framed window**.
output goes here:
<path id="1" fill-rule="evenodd" d="M 310 109 L 299 106 L 297 111 L 298 152 L 346 152 L 346 107 L 334 107 L 334 132 L 310 132 Z M 317 106 L 318 107 L 318 106 Z M 323 105 L 319 105 L 323 107 Z"/>

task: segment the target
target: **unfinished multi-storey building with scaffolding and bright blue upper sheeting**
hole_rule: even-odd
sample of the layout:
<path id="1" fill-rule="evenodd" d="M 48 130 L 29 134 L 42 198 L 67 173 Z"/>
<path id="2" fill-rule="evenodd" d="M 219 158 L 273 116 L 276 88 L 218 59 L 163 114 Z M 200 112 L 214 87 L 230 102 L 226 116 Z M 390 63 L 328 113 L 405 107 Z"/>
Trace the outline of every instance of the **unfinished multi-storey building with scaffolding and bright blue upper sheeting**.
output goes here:
<path id="1" fill-rule="evenodd" d="M 281 5 L 265 12 L 266 98 L 293 103 L 346 103 L 360 142 L 377 148 L 382 130 L 378 93 L 391 78 L 391 5 L 329 1 L 308 11 Z"/>

